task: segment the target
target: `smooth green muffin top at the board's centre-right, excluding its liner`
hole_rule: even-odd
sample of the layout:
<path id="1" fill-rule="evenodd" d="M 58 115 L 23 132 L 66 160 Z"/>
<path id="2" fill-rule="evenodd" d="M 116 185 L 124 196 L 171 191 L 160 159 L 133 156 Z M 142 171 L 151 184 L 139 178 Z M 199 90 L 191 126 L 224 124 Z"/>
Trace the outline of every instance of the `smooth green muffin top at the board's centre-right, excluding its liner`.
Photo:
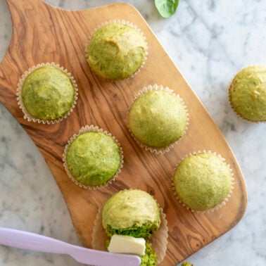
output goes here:
<path id="1" fill-rule="evenodd" d="M 147 146 L 168 146 L 182 137 L 185 129 L 186 110 L 170 92 L 148 91 L 129 110 L 129 130 Z"/>

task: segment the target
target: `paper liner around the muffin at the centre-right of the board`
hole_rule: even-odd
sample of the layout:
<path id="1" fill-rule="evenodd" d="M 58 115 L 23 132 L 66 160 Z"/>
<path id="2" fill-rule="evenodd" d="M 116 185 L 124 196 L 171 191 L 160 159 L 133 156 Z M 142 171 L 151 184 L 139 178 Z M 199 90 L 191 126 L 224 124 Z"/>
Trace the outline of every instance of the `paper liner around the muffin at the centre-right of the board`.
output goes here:
<path id="1" fill-rule="evenodd" d="M 164 147 L 147 146 L 146 144 L 143 144 L 141 141 L 136 139 L 134 137 L 134 134 L 129 129 L 129 119 L 128 119 L 129 118 L 129 112 L 130 112 L 134 102 L 139 98 L 139 96 L 146 94 L 148 91 L 166 91 L 166 92 L 171 93 L 173 96 L 175 96 L 175 97 L 177 97 L 177 99 L 179 99 L 179 101 L 184 106 L 184 110 L 186 111 L 186 127 L 184 129 L 184 133 L 182 134 L 182 136 L 179 139 L 177 139 L 177 141 L 175 141 L 174 143 L 172 143 L 168 146 L 164 146 Z M 184 103 L 184 100 L 179 96 L 179 94 L 175 94 L 175 92 L 172 89 L 169 89 L 168 87 L 163 87 L 163 85 L 157 85 L 157 84 L 148 85 L 148 87 L 144 87 L 134 96 L 134 100 L 130 104 L 130 107 L 127 111 L 127 127 L 129 129 L 130 134 L 132 135 L 134 140 L 137 142 L 137 144 L 139 144 L 139 146 L 141 146 L 141 148 L 145 148 L 146 151 L 150 151 L 151 153 L 164 154 L 164 153 L 169 152 L 171 150 L 171 148 L 173 148 L 175 146 L 175 144 L 177 144 L 177 142 L 181 141 L 183 139 L 184 135 L 186 134 L 188 127 L 189 127 L 189 111 L 186 107 L 186 104 Z"/>

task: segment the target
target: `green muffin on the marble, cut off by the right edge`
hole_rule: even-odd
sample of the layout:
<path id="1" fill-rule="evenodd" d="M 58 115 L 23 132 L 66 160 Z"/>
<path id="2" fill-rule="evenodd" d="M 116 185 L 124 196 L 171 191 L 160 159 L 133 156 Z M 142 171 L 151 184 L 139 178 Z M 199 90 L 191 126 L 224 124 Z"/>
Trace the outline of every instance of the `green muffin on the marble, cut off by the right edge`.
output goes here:
<path id="1" fill-rule="evenodd" d="M 266 67 L 250 66 L 239 71 L 229 88 L 232 107 L 241 117 L 266 121 Z"/>

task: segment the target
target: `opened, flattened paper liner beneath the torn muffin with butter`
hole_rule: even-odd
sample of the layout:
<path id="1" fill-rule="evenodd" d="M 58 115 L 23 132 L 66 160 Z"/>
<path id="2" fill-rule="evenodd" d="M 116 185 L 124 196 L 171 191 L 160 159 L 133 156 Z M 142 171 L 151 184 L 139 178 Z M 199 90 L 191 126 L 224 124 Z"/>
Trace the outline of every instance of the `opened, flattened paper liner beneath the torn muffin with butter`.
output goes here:
<path id="1" fill-rule="evenodd" d="M 157 264 L 160 264 L 160 262 L 162 262 L 165 258 L 165 253 L 167 251 L 168 227 L 166 215 L 165 213 L 163 213 L 163 208 L 160 208 L 159 205 L 158 207 L 160 210 L 160 227 L 151 236 L 150 243 L 153 250 L 157 254 Z M 102 210 L 103 206 L 99 208 L 96 219 L 94 220 L 94 227 L 91 234 L 91 246 L 96 250 L 106 251 L 106 241 L 110 238 L 107 236 L 106 231 L 103 229 L 101 218 Z"/>

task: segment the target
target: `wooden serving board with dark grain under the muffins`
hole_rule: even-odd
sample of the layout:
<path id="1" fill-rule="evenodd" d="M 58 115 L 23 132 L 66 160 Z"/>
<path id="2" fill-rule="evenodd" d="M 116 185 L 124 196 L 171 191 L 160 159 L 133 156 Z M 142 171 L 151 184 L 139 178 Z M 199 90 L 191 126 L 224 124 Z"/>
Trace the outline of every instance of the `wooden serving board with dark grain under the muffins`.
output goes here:
<path id="1" fill-rule="evenodd" d="M 7 0 L 13 35 L 0 65 L 0 101 L 23 126 L 44 156 L 60 187 L 72 222 L 84 246 L 91 246 L 96 213 L 121 189 L 142 189 L 152 194 L 166 213 L 169 239 L 161 265 L 176 265 L 234 227 L 246 209 L 246 189 L 239 165 L 213 119 L 179 73 L 139 12 L 128 4 L 110 4 L 82 11 L 65 11 L 41 0 Z M 135 77 L 118 82 L 101 80 L 84 56 L 88 36 L 108 20 L 125 19 L 137 25 L 148 42 L 146 65 Z M 55 62 L 77 80 L 79 99 L 71 115 L 55 125 L 27 122 L 18 108 L 16 87 L 25 70 L 37 63 Z M 189 109 L 189 129 L 182 141 L 165 155 L 140 148 L 127 129 L 127 110 L 134 94 L 148 84 L 163 84 L 182 96 Z M 120 141 L 125 163 L 112 185 L 101 190 L 76 186 L 63 169 L 62 154 L 68 139 L 84 125 L 98 125 Z M 172 192 L 177 162 L 198 150 L 220 153 L 232 167 L 232 198 L 220 210 L 196 214 L 186 210 Z M 1 177 L 3 178 L 3 177 Z M 43 180 L 45 182 L 45 180 Z"/>

